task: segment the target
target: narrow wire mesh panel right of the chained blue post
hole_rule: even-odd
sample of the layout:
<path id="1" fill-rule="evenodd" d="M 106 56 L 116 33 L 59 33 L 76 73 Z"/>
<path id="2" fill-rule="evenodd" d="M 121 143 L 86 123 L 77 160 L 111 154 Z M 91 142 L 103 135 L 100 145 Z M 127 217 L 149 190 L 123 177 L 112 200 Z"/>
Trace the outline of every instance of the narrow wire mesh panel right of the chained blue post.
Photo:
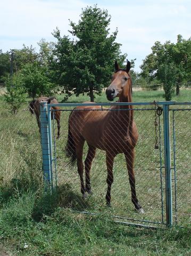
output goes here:
<path id="1" fill-rule="evenodd" d="M 174 132 L 171 136 L 173 152 L 173 217 L 180 225 L 191 222 L 191 161 L 190 161 L 190 114 L 191 109 L 173 109 L 171 126 Z"/>

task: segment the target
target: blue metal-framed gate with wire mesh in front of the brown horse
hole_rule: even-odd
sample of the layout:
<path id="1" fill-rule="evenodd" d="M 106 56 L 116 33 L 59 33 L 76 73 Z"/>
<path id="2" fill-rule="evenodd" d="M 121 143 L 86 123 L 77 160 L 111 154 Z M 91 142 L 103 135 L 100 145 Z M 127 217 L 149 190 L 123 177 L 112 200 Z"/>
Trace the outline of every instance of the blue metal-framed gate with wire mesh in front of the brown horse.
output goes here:
<path id="1" fill-rule="evenodd" d="M 45 186 L 64 189 L 63 206 L 87 214 L 111 214 L 115 221 L 145 227 L 184 225 L 190 221 L 190 102 L 63 103 L 41 108 L 41 145 Z M 64 155 L 68 118 L 77 106 L 133 105 L 139 140 L 136 146 L 136 192 L 145 213 L 138 214 L 131 203 L 127 167 L 123 154 L 115 157 L 112 206 L 105 206 L 105 153 L 98 150 L 91 170 L 93 195 L 81 198 L 77 167 L 70 167 Z M 59 106 L 61 139 L 55 139 L 52 106 Z M 78 110 L 80 111 L 80 110 Z M 96 111 L 96 110 L 95 110 Z M 163 114 L 162 114 L 163 113 Z M 180 113 L 181 114 L 180 116 Z M 162 115 L 161 115 L 162 114 Z M 183 126 L 184 124 L 184 126 Z M 52 129 L 53 126 L 53 129 Z M 183 139 L 182 139 L 183 138 Z M 84 157 L 87 154 L 85 145 Z"/>

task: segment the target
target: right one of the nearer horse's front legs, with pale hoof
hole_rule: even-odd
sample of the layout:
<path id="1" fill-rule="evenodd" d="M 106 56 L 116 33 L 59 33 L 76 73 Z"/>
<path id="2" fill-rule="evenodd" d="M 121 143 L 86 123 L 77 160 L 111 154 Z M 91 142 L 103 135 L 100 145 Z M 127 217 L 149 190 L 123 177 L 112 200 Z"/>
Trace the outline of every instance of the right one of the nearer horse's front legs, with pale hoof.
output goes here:
<path id="1" fill-rule="evenodd" d="M 135 205 L 135 209 L 139 213 L 144 213 L 142 206 L 138 202 L 136 189 L 135 189 L 135 173 L 134 173 L 135 149 L 130 149 L 128 153 L 124 155 L 126 157 L 127 170 L 129 174 L 129 183 L 131 187 L 131 201 Z"/>

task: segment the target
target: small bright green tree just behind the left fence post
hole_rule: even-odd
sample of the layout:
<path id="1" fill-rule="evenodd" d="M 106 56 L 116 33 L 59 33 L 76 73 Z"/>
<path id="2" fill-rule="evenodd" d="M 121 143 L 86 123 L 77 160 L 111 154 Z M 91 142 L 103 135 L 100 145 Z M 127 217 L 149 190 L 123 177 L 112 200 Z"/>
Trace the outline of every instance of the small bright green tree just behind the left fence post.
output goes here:
<path id="1" fill-rule="evenodd" d="M 23 86 L 33 99 L 52 94 L 54 84 L 49 78 L 48 71 L 45 66 L 40 66 L 39 62 L 28 63 L 22 68 Z"/>

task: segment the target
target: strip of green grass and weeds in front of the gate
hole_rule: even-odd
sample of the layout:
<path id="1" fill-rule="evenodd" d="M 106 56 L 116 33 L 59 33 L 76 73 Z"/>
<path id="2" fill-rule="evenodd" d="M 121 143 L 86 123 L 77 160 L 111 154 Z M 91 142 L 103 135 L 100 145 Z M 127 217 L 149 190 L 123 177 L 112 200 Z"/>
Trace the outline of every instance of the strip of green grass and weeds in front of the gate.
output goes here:
<path id="1" fill-rule="evenodd" d="M 36 201 L 46 209 L 41 221 L 32 218 Z M 84 215 L 55 206 L 55 200 L 47 207 L 47 199 L 31 193 L 4 205 L 0 237 L 8 255 L 190 255 L 190 227 L 137 229 L 114 223 L 106 214 Z"/>

